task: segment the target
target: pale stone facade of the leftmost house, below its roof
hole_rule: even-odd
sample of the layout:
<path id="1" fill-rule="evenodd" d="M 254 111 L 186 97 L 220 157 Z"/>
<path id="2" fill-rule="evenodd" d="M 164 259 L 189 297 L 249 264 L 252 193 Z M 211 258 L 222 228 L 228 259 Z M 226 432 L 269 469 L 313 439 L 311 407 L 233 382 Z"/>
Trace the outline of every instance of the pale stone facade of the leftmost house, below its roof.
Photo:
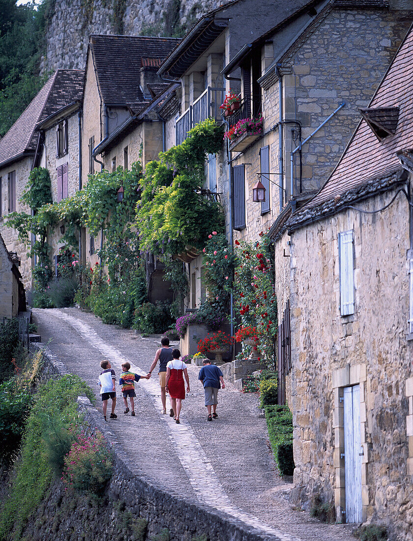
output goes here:
<path id="1" fill-rule="evenodd" d="M 16 171 L 16 211 L 26 212 L 30 214 L 30 208 L 24 205 L 19 199 L 21 198 L 26 183 L 29 180 L 29 174 L 31 169 L 31 157 L 24 158 L 18 162 L 12 163 L 8 167 L 0 169 L 0 177 L 2 179 L 2 217 L 0 218 L 0 234 L 2 235 L 5 245 L 9 252 L 17 252 L 19 258 L 21 258 L 21 265 L 19 271 L 23 278 L 23 285 L 26 289 L 31 288 L 31 258 L 28 257 L 28 247 L 18 239 L 18 233 L 16 229 L 5 226 L 8 214 L 9 206 L 9 193 L 8 193 L 8 173 L 10 171 Z"/>

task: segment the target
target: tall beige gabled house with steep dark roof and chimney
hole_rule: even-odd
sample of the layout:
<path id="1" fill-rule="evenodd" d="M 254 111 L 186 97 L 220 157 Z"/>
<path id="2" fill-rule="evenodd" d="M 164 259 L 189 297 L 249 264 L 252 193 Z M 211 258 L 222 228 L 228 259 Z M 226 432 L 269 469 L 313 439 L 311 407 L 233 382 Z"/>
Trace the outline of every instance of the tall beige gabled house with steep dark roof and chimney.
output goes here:
<path id="1" fill-rule="evenodd" d="M 110 143 L 116 138 L 118 129 L 123 129 L 124 124 L 152 100 L 153 85 L 161 84 L 162 88 L 164 82 L 156 75 L 156 70 L 178 41 L 176 38 L 90 36 L 83 92 L 81 186 L 88 182 L 90 173 L 104 168 L 113 171 L 139 156 L 141 139 L 138 134 L 119 152 L 109 155 Z M 162 133 L 161 123 L 155 126 L 151 129 Z M 148 136 L 145 139 L 149 141 Z M 159 140 L 162 144 L 162 137 Z M 97 157 L 101 151 L 105 151 L 105 162 Z M 95 239 L 82 229 L 80 255 L 83 265 L 86 259 L 92 265 L 98 262 L 96 250 L 100 244 L 101 233 Z"/>

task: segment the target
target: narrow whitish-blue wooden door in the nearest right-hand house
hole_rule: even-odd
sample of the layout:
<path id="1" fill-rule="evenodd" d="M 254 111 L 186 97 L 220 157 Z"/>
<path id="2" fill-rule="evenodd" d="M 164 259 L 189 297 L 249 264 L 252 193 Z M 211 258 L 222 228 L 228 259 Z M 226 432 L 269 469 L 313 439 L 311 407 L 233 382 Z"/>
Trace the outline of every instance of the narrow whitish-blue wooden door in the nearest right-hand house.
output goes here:
<path id="1" fill-rule="evenodd" d="M 362 520 L 360 386 L 344 388 L 345 522 Z"/>

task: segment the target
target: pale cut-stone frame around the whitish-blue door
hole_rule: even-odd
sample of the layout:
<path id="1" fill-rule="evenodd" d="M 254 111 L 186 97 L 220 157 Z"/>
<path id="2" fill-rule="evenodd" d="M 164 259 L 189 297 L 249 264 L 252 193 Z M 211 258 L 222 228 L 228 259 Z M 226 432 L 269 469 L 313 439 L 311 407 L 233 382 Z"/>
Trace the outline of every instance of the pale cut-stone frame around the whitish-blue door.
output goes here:
<path id="1" fill-rule="evenodd" d="M 334 391 L 333 429 L 335 469 L 334 504 L 337 522 L 343 522 L 345 513 L 345 473 L 344 473 L 344 387 L 360 386 L 360 444 L 363 447 L 362 459 L 362 517 L 367 518 L 367 507 L 370 503 L 368 485 L 368 464 L 370 448 L 367 442 L 367 405 L 366 405 L 367 367 L 362 365 L 346 365 L 332 371 L 332 388 Z M 413 448 L 413 447 L 412 447 Z"/>

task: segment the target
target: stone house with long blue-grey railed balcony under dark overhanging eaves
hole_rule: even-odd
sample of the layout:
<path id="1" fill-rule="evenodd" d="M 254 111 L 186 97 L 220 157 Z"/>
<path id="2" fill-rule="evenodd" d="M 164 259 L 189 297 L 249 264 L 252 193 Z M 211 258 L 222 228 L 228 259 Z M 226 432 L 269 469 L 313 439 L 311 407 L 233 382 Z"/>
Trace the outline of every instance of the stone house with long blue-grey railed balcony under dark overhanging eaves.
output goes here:
<path id="1" fill-rule="evenodd" d="M 265 0 L 257 10 L 256 2 L 237 0 L 199 19 L 158 71 L 161 75 L 168 74 L 181 80 L 181 114 L 171 119 L 175 129 L 171 129 L 170 125 L 168 127 L 167 123 L 166 148 L 184 141 L 188 130 L 205 118 L 222 121 L 219 106 L 224 101 L 225 92 L 230 90 L 230 82 L 225 81 L 222 70 L 244 46 L 245 29 L 248 29 L 248 38 L 254 41 L 263 32 L 300 10 L 304 4 L 302 0 L 288 5 Z M 231 88 L 239 93 L 241 78 L 231 81 Z M 209 156 L 205 172 L 205 188 L 221 196 L 227 235 L 232 242 L 232 171 L 228 167 L 228 153 L 224 144 L 221 153 Z M 201 283 L 202 257 L 188 253 L 185 262 L 188 264 L 190 283 L 189 307 L 193 309 L 199 307 L 205 296 Z"/>

